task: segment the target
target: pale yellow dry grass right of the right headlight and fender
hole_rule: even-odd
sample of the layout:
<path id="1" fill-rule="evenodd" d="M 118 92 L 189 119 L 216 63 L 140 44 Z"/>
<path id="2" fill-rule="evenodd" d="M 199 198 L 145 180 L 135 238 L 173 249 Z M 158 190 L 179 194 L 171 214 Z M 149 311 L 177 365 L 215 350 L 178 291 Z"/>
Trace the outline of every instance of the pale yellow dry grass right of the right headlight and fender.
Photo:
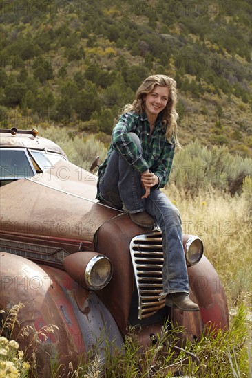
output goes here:
<path id="1" fill-rule="evenodd" d="M 202 238 L 204 254 L 222 280 L 229 308 L 243 303 L 251 310 L 251 196 L 209 190 L 188 198 L 175 186 L 165 192 L 180 210 L 183 232 Z"/>

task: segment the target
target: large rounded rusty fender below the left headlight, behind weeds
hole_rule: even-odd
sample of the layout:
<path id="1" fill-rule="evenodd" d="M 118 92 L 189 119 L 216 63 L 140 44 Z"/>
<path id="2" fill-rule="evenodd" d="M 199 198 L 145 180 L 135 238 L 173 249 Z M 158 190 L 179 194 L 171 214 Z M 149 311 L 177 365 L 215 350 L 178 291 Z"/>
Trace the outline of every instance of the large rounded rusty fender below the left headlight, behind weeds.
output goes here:
<path id="1" fill-rule="evenodd" d="M 10 309 L 18 303 L 25 307 L 19 313 L 20 327 L 12 336 L 17 336 L 23 326 L 31 326 L 28 337 L 18 338 L 25 349 L 39 333 L 41 342 L 32 344 L 28 353 L 31 356 L 36 351 L 39 377 L 50 377 L 51 359 L 58 359 L 60 373 L 67 376 L 70 362 L 76 366 L 87 351 L 103 355 L 106 340 L 116 339 L 114 347 L 123 345 L 114 319 L 96 294 L 77 285 L 65 271 L 39 267 L 28 259 L 1 252 L 0 307 Z M 43 331 L 50 324 L 58 329 L 54 333 Z"/>

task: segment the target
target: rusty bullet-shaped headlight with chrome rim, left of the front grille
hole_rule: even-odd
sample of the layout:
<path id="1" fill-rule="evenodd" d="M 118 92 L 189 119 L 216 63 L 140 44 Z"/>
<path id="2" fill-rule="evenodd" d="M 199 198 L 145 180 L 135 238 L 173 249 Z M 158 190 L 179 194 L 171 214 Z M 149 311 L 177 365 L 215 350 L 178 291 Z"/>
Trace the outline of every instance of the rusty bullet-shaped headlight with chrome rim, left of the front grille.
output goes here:
<path id="1" fill-rule="evenodd" d="M 95 252 L 70 254 L 65 258 L 63 265 L 67 273 L 88 290 L 103 289 L 112 278 L 111 261 Z"/>

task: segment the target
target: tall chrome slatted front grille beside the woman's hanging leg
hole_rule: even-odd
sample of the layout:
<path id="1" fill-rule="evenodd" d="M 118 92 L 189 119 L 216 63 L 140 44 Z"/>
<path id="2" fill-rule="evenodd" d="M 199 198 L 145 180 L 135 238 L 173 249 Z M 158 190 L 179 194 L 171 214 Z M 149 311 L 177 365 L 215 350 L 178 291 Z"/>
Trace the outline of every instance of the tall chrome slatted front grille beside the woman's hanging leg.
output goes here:
<path id="1" fill-rule="evenodd" d="M 162 293 L 162 235 L 159 231 L 138 235 L 130 243 L 138 290 L 138 318 L 147 318 L 165 306 Z"/>

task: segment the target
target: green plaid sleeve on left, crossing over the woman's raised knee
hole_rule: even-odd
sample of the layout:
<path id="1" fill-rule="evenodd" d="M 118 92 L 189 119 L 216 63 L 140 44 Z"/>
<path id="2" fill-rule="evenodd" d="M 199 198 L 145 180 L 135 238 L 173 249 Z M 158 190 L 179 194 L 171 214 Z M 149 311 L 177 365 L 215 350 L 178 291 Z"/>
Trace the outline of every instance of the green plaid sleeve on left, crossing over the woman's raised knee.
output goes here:
<path id="1" fill-rule="evenodd" d="M 149 169 L 149 165 L 143 155 L 139 153 L 136 144 L 134 144 L 132 137 L 129 135 L 130 132 L 134 132 L 136 129 L 136 122 L 137 118 L 134 114 L 125 113 L 121 115 L 112 132 L 112 145 L 118 153 L 125 157 L 130 165 L 134 166 L 139 173 L 143 173 Z"/>

